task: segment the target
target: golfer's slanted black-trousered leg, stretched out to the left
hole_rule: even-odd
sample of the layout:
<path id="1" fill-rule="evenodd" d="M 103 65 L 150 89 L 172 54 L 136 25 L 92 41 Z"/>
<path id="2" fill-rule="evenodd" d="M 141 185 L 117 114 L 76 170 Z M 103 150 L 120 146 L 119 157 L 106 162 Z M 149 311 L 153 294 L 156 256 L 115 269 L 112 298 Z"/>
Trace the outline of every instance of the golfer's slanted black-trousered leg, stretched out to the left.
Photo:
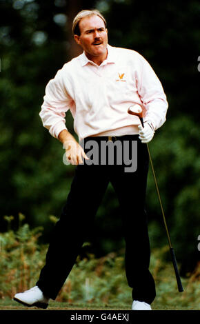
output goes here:
<path id="1" fill-rule="evenodd" d="M 94 215 L 108 186 L 105 166 L 78 165 L 66 205 L 54 227 L 37 285 L 55 299 L 92 230 Z"/>

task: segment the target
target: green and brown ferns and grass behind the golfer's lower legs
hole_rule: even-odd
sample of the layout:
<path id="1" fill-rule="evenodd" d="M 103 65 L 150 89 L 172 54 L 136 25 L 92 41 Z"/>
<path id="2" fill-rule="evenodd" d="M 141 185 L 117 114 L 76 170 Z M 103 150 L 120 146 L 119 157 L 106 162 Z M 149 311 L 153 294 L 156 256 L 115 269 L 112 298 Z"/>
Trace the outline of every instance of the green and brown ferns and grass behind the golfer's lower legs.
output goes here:
<path id="1" fill-rule="evenodd" d="M 17 232 L 0 233 L 0 310 L 38 310 L 12 301 L 14 294 L 34 286 L 46 257 L 47 246 L 37 243 L 41 228 L 21 225 Z M 153 250 L 150 271 L 157 287 L 153 310 L 199 310 L 200 264 L 182 278 L 184 292 L 177 281 L 168 247 Z M 88 254 L 78 258 L 56 301 L 48 310 L 130 310 L 131 288 L 124 268 L 124 250 L 96 259 Z"/>

